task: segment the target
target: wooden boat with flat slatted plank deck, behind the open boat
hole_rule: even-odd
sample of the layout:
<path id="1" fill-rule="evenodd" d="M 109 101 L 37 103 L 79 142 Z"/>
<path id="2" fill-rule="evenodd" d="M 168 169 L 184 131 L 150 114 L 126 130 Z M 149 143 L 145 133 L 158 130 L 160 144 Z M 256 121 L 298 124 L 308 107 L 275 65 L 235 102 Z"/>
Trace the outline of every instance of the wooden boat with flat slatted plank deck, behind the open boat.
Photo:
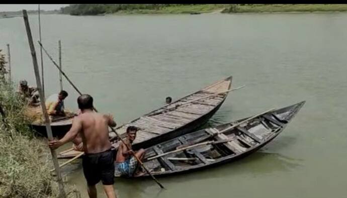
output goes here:
<path id="1" fill-rule="evenodd" d="M 134 141 L 134 149 L 147 148 L 191 132 L 204 125 L 216 113 L 228 95 L 228 92 L 225 91 L 231 88 L 231 82 L 232 76 L 217 81 L 195 93 L 180 98 L 176 102 L 126 123 L 116 128 L 116 131 L 124 138 L 128 126 L 140 128 Z M 199 98 L 202 100 L 198 100 Z M 110 132 L 110 134 L 111 137 L 115 136 L 114 132 Z M 116 140 L 113 146 L 118 148 L 118 143 Z M 74 150 L 63 151 L 58 155 L 58 158 L 71 158 L 79 153 L 79 151 Z"/>

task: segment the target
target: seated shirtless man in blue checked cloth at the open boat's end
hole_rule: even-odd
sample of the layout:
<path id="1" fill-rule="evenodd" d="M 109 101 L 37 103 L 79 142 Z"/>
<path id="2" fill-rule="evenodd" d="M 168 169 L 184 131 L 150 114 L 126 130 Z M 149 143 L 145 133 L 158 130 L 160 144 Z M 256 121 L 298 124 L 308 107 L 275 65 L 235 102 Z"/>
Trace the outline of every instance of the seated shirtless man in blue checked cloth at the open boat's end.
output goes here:
<path id="1" fill-rule="evenodd" d="M 140 160 L 143 158 L 145 151 L 140 149 L 135 152 L 132 150 L 132 143 L 136 138 L 136 132 L 138 128 L 129 126 L 127 128 L 127 139 L 124 141 L 126 145 L 121 143 L 118 147 L 116 156 L 116 166 L 123 176 L 132 177 L 137 169 L 138 162 L 133 155 L 136 155 Z M 130 148 L 130 149 L 128 149 Z M 143 174 L 142 172 L 136 172 L 136 175 Z"/>

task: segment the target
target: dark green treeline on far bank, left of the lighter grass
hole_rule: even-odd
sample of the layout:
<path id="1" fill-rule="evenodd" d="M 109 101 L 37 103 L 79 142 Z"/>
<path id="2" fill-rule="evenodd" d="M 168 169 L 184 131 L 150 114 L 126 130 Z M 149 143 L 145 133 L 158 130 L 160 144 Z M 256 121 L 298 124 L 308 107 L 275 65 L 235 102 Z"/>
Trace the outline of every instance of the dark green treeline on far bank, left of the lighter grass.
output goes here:
<path id="1" fill-rule="evenodd" d="M 61 8 L 60 11 L 62 14 L 70 15 L 100 15 L 119 11 L 159 10 L 164 7 L 192 5 L 198 4 L 74 4 Z"/>

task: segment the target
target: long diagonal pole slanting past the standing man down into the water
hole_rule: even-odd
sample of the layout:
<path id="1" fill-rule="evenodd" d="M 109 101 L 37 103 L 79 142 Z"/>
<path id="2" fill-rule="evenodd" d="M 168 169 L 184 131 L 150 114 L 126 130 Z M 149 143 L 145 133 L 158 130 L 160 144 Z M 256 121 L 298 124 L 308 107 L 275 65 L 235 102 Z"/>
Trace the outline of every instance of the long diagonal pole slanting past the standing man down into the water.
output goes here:
<path id="1" fill-rule="evenodd" d="M 38 41 L 42 49 L 45 51 L 49 59 L 53 62 L 53 64 L 58 68 L 58 70 L 63 74 L 63 76 L 66 78 L 66 80 L 72 85 L 72 87 L 79 93 L 79 95 L 82 95 L 82 93 L 78 90 L 78 88 L 71 82 L 71 80 L 66 76 L 66 74 L 61 70 L 61 68 L 58 66 L 58 64 L 53 60 L 53 58 L 48 54 L 46 49 L 42 46 L 41 42 Z M 98 112 L 97 109 L 93 108 L 95 112 Z M 124 140 L 118 135 L 116 130 L 113 127 L 110 127 L 113 132 L 117 135 L 117 137 L 123 142 L 123 144 L 127 147 L 128 150 L 130 150 L 129 146 L 124 142 Z M 142 161 L 134 154 L 133 155 L 135 159 L 140 163 L 140 165 L 143 167 L 143 169 L 146 170 L 147 174 L 149 174 L 152 179 L 161 187 L 164 188 L 164 186 L 149 172 L 149 170 L 145 167 L 145 165 L 142 163 Z"/>

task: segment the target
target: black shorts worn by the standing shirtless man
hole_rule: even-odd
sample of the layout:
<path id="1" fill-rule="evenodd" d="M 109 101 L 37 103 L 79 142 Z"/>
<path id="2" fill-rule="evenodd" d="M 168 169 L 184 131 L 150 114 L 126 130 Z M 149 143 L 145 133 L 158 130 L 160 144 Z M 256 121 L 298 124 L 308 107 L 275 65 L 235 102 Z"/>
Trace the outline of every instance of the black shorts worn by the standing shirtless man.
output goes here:
<path id="1" fill-rule="evenodd" d="M 114 150 L 101 153 L 86 153 L 82 158 L 84 177 L 88 185 L 95 185 L 100 180 L 104 185 L 114 183 Z"/>

